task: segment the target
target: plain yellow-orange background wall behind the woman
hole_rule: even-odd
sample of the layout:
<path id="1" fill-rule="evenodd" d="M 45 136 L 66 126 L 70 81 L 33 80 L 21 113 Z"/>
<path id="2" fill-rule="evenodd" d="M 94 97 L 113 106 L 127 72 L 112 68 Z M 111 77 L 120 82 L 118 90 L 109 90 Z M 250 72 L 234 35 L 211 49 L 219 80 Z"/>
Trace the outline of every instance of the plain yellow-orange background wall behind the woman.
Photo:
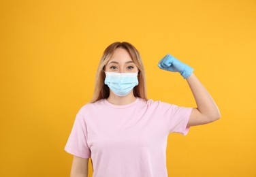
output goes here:
<path id="1" fill-rule="evenodd" d="M 148 98 L 194 107 L 170 53 L 195 69 L 221 119 L 170 134 L 169 176 L 256 176 L 256 1 L 0 1 L 0 176 L 69 176 L 64 151 L 103 50 L 131 42 Z M 92 176 L 91 161 L 89 176 Z M 161 177 L 161 176 L 156 176 Z"/>

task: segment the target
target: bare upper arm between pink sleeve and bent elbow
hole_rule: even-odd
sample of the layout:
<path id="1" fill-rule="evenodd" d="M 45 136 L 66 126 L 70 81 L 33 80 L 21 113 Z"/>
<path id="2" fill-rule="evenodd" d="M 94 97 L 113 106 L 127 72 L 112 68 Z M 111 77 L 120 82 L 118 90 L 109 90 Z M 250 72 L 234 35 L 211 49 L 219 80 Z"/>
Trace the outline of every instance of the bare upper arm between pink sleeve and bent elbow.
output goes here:
<path id="1" fill-rule="evenodd" d="M 218 118 L 212 119 L 205 116 L 197 108 L 193 108 L 191 115 L 189 117 L 189 122 L 187 123 L 187 127 L 195 126 L 195 125 L 203 125 L 206 123 L 211 123 Z"/>

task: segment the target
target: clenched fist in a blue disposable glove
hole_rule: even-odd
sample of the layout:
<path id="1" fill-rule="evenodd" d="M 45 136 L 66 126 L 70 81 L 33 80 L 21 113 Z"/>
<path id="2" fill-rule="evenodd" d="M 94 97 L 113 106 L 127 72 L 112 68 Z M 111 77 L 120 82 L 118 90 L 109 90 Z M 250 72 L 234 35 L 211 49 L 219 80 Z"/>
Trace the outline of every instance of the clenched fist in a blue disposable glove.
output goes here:
<path id="1" fill-rule="evenodd" d="M 158 67 L 166 71 L 179 72 L 185 79 L 187 79 L 194 70 L 192 67 L 189 67 L 189 65 L 186 65 L 172 57 L 171 54 L 165 55 L 165 57 L 159 61 Z"/>

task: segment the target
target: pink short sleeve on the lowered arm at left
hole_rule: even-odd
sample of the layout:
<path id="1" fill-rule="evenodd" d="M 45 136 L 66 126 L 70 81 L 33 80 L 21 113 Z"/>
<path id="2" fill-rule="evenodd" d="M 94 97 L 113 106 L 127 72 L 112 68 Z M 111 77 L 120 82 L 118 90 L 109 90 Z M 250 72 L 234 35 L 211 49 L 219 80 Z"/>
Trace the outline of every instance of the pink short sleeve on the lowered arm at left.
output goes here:
<path id="1" fill-rule="evenodd" d="M 82 110 L 80 109 L 78 114 L 76 114 L 74 125 L 64 150 L 71 155 L 89 159 L 91 157 L 91 150 L 87 144 L 87 128 L 81 113 Z"/>

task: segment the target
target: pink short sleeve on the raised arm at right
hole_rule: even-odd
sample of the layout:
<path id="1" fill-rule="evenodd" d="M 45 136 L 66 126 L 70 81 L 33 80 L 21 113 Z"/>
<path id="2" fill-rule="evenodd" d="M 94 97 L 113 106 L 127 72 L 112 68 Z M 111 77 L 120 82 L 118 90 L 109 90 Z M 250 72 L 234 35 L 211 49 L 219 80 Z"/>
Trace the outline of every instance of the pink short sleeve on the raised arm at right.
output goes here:
<path id="1" fill-rule="evenodd" d="M 164 119 L 169 133 L 175 132 L 187 135 L 190 129 L 190 127 L 187 127 L 187 123 L 189 122 L 193 108 L 180 107 L 163 102 L 161 102 L 161 104 L 163 106 Z"/>

